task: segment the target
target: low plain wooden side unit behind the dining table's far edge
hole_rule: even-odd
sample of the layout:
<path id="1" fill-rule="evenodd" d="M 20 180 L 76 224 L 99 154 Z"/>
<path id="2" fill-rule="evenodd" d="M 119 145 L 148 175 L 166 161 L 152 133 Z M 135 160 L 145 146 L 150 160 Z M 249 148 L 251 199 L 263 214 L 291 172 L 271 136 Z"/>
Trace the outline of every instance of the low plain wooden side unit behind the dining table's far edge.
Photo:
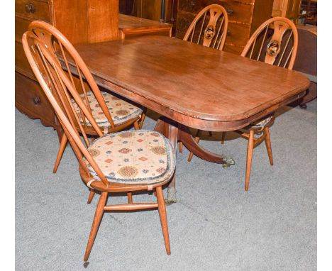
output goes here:
<path id="1" fill-rule="evenodd" d="M 118 29 L 120 31 L 121 38 L 126 38 L 126 35 L 148 33 L 158 33 L 160 35 L 169 36 L 172 35 L 172 25 L 170 24 L 160 23 L 145 18 L 128 16 L 125 14 L 118 14 Z"/>

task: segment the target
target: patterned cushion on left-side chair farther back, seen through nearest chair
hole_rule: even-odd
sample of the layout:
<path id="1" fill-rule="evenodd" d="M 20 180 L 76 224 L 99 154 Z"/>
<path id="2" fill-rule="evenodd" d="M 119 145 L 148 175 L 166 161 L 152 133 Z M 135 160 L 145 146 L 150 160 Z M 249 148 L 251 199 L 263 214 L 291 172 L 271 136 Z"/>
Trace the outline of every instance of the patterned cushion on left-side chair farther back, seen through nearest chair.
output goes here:
<path id="1" fill-rule="evenodd" d="M 142 114 L 142 109 L 138 108 L 137 106 L 133 106 L 133 104 L 129 104 L 126 101 L 118 99 L 118 97 L 113 96 L 108 92 L 101 92 L 101 94 L 104 96 L 104 100 L 107 104 L 107 107 L 109 108 L 109 112 L 111 113 L 114 124 L 116 126 L 125 123 L 126 121 L 129 121 Z M 82 99 L 84 99 L 84 94 L 81 94 L 81 96 Z M 99 106 L 98 101 L 96 100 L 94 94 L 92 92 L 87 92 L 87 96 L 89 99 L 92 116 L 94 116 L 96 123 L 102 128 L 111 128 L 111 125 L 109 124 L 109 121 L 107 121 L 107 118 L 104 115 L 103 111 L 101 110 L 101 107 Z M 74 105 L 74 109 L 77 112 L 79 112 L 79 107 L 77 106 L 74 99 L 72 99 L 72 104 Z M 82 116 L 80 116 L 80 114 L 79 118 L 83 124 Z M 86 121 L 87 125 L 90 125 L 89 121 L 88 120 Z"/>

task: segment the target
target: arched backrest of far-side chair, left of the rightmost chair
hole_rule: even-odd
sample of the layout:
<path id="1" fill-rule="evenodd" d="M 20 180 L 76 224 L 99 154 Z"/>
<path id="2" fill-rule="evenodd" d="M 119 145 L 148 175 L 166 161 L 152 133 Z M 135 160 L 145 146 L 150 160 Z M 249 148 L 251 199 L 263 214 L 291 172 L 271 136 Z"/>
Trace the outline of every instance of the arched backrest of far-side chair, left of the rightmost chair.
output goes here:
<path id="1" fill-rule="evenodd" d="M 202 9 L 190 24 L 183 40 L 223 50 L 228 28 L 226 9 L 209 5 Z"/>

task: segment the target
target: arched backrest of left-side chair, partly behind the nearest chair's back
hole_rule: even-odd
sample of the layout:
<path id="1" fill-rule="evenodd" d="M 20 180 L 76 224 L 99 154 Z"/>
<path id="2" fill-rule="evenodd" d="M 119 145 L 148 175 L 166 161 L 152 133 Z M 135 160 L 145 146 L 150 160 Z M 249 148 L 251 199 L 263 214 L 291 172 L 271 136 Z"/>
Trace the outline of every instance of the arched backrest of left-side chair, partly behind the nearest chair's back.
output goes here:
<path id="1" fill-rule="evenodd" d="M 101 107 L 101 110 L 109 121 L 111 128 L 114 128 L 114 121 L 105 103 L 104 97 L 94 81 L 94 77 L 92 77 L 87 65 L 84 63 L 82 57 L 80 57 L 72 43 L 70 43 L 70 41 L 67 40 L 67 38 L 65 38 L 65 36 L 57 30 L 57 28 L 43 21 L 31 22 L 28 30 L 33 32 L 40 40 L 43 41 L 43 43 L 47 46 L 47 49 L 50 50 L 55 57 L 57 57 L 59 62 L 60 57 L 62 58 L 62 62 L 64 62 L 63 69 L 68 73 L 72 87 L 76 89 L 77 93 L 84 94 L 84 102 L 87 104 L 90 112 L 91 108 L 89 105 L 87 91 L 92 91 L 99 103 L 99 106 Z M 79 78 L 74 77 L 72 71 L 76 71 Z"/>

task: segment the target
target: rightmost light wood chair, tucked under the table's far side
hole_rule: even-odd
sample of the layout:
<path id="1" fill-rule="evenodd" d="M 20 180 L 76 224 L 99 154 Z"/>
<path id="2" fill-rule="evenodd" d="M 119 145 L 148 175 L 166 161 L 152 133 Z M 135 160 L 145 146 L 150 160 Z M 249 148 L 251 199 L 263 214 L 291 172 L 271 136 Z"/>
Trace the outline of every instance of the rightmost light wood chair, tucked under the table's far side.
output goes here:
<path id="1" fill-rule="evenodd" d="M 278 67 L 293 69 L 295 58 L 297 57 L 298 35 L 297 28 L 288 18 L 275 17 L 262 23 L 248 40 L 243 49 L 242 56 L 253 60 L 263 61 Z M 271 78 L 273 79 L 273 78 Z M 245 172 L 245 190 L 249 189 L 251 161 L 253 160 L 253 148 L 265 140 L 267 154 L 270 164 L 273 165 L 272 148 L 269 128 L 275 120 L 275 115 L 270 114 L 250 126 L 243 128 L 240 136 L 248 139 L 247 165 Z M 262 136 L 255 138 L 255 133 Z M 225 134 L 222 133 L 221 143 L 225 140 Z M 197 131 L 195 140 L 198 143 L 201 131 Z M 188 161 L 192 160 L 193 154 L 190 153 Z"/>

